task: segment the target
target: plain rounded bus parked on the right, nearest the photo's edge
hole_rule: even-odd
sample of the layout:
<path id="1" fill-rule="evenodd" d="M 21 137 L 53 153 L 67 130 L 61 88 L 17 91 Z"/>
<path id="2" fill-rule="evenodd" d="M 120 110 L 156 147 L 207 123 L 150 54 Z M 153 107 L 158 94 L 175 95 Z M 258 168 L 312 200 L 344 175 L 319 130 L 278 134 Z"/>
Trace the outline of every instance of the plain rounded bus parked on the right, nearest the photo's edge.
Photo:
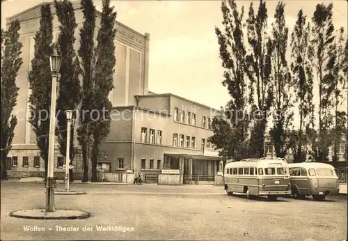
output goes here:
<path id="1" fill-rule="evenodd" d="M 296 199 L 313 196 L 324 200 L 326 195 L 338 195 L 340 185 L 335 168 L 320 162 L 301 162 L 289 164 L 292 195 Z"/>

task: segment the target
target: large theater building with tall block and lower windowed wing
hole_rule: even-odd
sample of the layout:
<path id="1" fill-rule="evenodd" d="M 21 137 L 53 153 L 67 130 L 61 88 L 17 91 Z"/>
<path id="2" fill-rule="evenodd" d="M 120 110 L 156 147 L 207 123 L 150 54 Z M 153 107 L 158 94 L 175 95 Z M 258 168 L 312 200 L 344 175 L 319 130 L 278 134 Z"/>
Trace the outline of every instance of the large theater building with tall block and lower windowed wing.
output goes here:
<path id="1" fill-rule="evenodd" d="M 34 6 L 22 13 L 9 17 L 7 26 L 17 19 L 22 42 L 23 64 L 16 84 L 19 87 L 14 114 L 18 123 L 15 127 L 13 146 L 8 153 L 8 176 L 22 178 L 44 176 L 44 162 L 36 146 L 35 134 L 28 121 L 29 83 L 34 54 L 35 33 L 39 29 L 40 7 Z M 52 6 L 54 42 L 58 40 L 59 22 Z M 79 3 L 73 3 L 77 29 L 74 48 L 79 49 L 79 29 L 84 22 Z M 97 12 L 95 40 L 100 28 L 101 13 Z M 155 94 L 148 91 L 149 33 L 139 33 L 116 21 L 116 59 L 114 87 L 109 94 L 113 104 L 111 132 L 102 145 L 98 162 L 106 169 L 106 180 L 129 182 L 127 177 L 134 171 L 142 171 L 148 182 L 156 182 L 163 169 L 173 169 L 184 180 L 211 182 L 222 170 L 223 158 L 207 138 L 212 135 L 211 121 L 216 110 L 173 94 Z M 78 124 L 77 124 L 78 125 Z M 56 143 L 58 143 L 56 141 Z M 76 146 L 78 143 L 76 142 Z M 58 150 L 54 157 L 54 176 L 64 178 L 65 159 Z M 74 157 L 74 178 L 81 178 L 81 153 Z M 90 168 L 90 164 L 89 164 Z M 128 175 L 127 175 L 128 173 Z M 189 181 L 187 181 L 189 182 Z"/>

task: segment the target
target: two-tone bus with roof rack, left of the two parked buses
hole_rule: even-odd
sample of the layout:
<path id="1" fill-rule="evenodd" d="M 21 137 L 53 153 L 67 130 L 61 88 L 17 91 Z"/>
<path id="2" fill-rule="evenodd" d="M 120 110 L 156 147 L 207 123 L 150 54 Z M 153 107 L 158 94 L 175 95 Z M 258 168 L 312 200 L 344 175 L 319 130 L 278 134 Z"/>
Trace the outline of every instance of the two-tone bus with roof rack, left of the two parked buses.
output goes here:
<path id="1" fill-rule="evenodd" d="M 247 199 L 267 195 L 271 201 L 279 195 L 291 195 L 289 168 L 284 158 L 230 162 L 225 166 L 224 179 L 228 195 L 243 193 Z"/>

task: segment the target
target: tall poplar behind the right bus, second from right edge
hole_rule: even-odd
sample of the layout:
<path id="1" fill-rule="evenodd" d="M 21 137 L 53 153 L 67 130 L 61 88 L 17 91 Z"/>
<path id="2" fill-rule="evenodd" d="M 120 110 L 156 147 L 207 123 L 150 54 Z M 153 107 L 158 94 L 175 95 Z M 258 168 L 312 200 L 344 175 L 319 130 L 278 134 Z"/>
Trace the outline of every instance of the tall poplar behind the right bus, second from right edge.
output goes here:
<path id="1" fill-rule="evenodd" d="M 333 123 L 331 109 L 333 108 L 333 93 L 335 90 L 334 68 L 335 68 L 335 36 L 332 23 L 333 4 L 325 6 L 318 4 L 312 17 L 313 40 L 311 45 L 315 49 L 313 64 L 317 74 L 319 86 L 319 133 L 317 162 L 328 160 L 329 146 L 331 141 L 328 137 Z"/>

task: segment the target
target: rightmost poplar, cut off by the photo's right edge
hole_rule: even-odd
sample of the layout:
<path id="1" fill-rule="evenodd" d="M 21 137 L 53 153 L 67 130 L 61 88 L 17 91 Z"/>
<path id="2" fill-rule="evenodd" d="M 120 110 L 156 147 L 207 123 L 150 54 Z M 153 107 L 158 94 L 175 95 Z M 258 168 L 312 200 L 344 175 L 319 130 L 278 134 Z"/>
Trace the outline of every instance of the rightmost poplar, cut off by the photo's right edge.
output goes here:
<path id="1" fill-rule="evenodd" d="M 333 133 L 331 137 L 333 137 L 333 156 L 332 160 L 338 160 L 338 152 L 340 149 L 340 143 L 342 141 L 342 137 L 344 137 L 345 132 L 347 130 L 347 113 L 345 111 L 340 111 L 342 107 L 342 103 L 344 101 L 343 91 L 347 86 L 347 40 L 345 40 L 345 30 L 340 28 L 339 36 L 335 43 L 335 69 L 334 69 L 334 106 L 335 106 L 335 123 L 333 127 Z"/>

